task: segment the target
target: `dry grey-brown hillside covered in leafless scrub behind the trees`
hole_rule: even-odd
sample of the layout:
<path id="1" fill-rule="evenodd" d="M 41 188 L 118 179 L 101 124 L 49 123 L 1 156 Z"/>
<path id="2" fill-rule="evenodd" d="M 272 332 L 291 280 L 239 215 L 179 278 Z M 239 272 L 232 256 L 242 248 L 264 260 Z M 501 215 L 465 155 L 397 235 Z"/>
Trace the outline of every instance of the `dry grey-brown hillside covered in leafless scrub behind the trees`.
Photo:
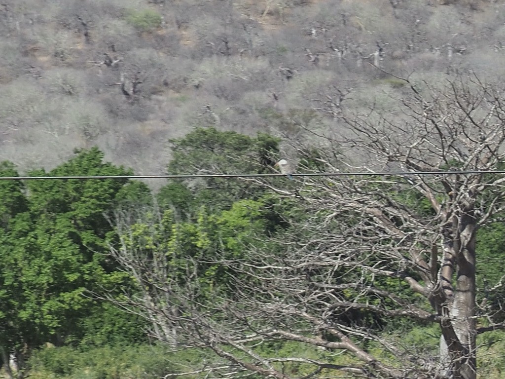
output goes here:
<path id="1" fill-rule="evenodd" d="M 194 126 L 300 137 L 403 83 L 505 71 L 505 5 L 472 0 L 3 0 L 0 160 L 97 145 L 163 172 Z M 420 84 L 421 85 L 421 84 Z"/>

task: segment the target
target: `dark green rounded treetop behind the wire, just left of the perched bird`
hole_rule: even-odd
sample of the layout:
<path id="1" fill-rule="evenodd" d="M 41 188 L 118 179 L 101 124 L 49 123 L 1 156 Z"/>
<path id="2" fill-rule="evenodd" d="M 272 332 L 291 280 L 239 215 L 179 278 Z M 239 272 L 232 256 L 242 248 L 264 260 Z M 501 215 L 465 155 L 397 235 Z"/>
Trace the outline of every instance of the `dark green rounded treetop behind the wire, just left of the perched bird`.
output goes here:
<path id="1" fill-rule="evenodd" d="M 252 138 L 215 128 L 197 128 L 184 138 L 171 140 L 173 158 L 168 165 L 168 173 L 262 173 L 275 164 L 279 153 L 278 143 L 278 138 L 267 134 L 260 133 Z M 227 209 L 240 199 L 256 199 L 264 192 L 260 186 L 233 178 L 196 178 L 184 180 L 183 183 L 190 188 L 193 199 L 190 204 L 196 208 L 205 205 L 211 212 Z M 171 201 L 180 207 L 181 200 L 189 199 L 189 193 L 184 190 L 181 195 L 176 195 L 175 188 L 182 188 L 180 184 L 173 188 L 162 189 L 160 193 L 165 197 L 165 203 L 167 196 L 170 196 L 173 199 Z M 187 211 L 188 208 L 183 207 L 182 210 Z"/>

